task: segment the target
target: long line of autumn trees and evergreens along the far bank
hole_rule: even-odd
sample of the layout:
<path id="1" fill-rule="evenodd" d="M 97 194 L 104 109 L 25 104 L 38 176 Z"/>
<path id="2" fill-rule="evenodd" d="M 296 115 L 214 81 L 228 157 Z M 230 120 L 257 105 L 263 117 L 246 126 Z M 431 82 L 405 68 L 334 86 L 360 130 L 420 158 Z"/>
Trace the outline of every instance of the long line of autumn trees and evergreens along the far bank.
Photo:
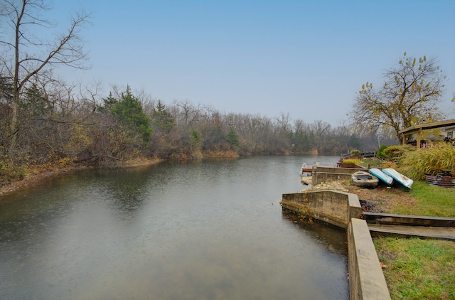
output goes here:
<path id="1" fill-rule="evenodd" d="M 291 120 L 289 114 L 222 113 L 188 100 L 165 104 L 130 87 L 93 92 L 62 82 L 33 82 L 18 102 L 11 145 L 12 82 L 0 77 L 0 153 L 14 164 L 75 161 L 112 166 L 139 157 L 195 159 L 251 154 L 329 154 L 378 149 L 377 136 L 359 136 L 347 125 Z M 382 144 L 391 139 L 382 138 Z"/>

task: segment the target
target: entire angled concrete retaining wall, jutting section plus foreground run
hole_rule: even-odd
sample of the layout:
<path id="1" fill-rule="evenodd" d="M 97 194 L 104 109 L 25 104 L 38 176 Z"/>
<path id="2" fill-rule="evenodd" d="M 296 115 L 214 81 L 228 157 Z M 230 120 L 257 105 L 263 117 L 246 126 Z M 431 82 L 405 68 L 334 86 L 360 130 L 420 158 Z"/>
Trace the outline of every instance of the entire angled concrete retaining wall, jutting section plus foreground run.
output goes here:
<path id="1" fill-rule="evenodd" d="M 347 229 L 350 299 L 390 299 L 373 240 L 355 194 L 284 193 L 282 207 Z"/>

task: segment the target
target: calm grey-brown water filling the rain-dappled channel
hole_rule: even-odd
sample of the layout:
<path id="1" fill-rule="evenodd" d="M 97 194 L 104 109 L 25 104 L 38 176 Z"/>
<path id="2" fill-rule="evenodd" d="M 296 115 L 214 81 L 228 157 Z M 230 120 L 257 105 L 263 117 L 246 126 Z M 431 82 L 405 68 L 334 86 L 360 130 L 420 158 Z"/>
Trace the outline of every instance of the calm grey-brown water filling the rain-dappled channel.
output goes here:
<path id="1" fill-rule="evenodd" d="M 346 233 L 282 213 L 257 156 L 78 171 L 0 198 L 1 299 L 348 299 Z"/>

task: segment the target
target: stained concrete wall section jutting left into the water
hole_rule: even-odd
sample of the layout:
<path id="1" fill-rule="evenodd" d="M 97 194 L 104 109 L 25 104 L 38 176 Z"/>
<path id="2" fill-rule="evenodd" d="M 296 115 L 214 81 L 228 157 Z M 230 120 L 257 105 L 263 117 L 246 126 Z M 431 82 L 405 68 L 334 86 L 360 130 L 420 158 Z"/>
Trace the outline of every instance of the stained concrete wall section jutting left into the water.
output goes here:
<path id="1" fill-rule="evenodd" d="M 362 213 L 357 195 L 338 191 L 284 193 L 282 206 L 343 228 Z"/>

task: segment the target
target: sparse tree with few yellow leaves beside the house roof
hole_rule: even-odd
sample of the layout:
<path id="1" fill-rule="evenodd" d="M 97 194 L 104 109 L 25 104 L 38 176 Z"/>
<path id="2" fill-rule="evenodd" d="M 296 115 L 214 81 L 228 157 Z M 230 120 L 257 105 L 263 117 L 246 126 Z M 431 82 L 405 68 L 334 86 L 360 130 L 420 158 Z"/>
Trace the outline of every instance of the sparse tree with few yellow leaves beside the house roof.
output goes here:
<path id="1" fill-rule="evenodd" d="M 444 117 L 437 103 L 445 79 L 436 59 L 408 58 L 405 53 L 385 72 L 382 87 L 373 89 L 370 82 L 362 86 L 350 114 L 352 124 L 360 131 L 393 133 L 401 141 L 405 137 L 400 130 Z"/>

